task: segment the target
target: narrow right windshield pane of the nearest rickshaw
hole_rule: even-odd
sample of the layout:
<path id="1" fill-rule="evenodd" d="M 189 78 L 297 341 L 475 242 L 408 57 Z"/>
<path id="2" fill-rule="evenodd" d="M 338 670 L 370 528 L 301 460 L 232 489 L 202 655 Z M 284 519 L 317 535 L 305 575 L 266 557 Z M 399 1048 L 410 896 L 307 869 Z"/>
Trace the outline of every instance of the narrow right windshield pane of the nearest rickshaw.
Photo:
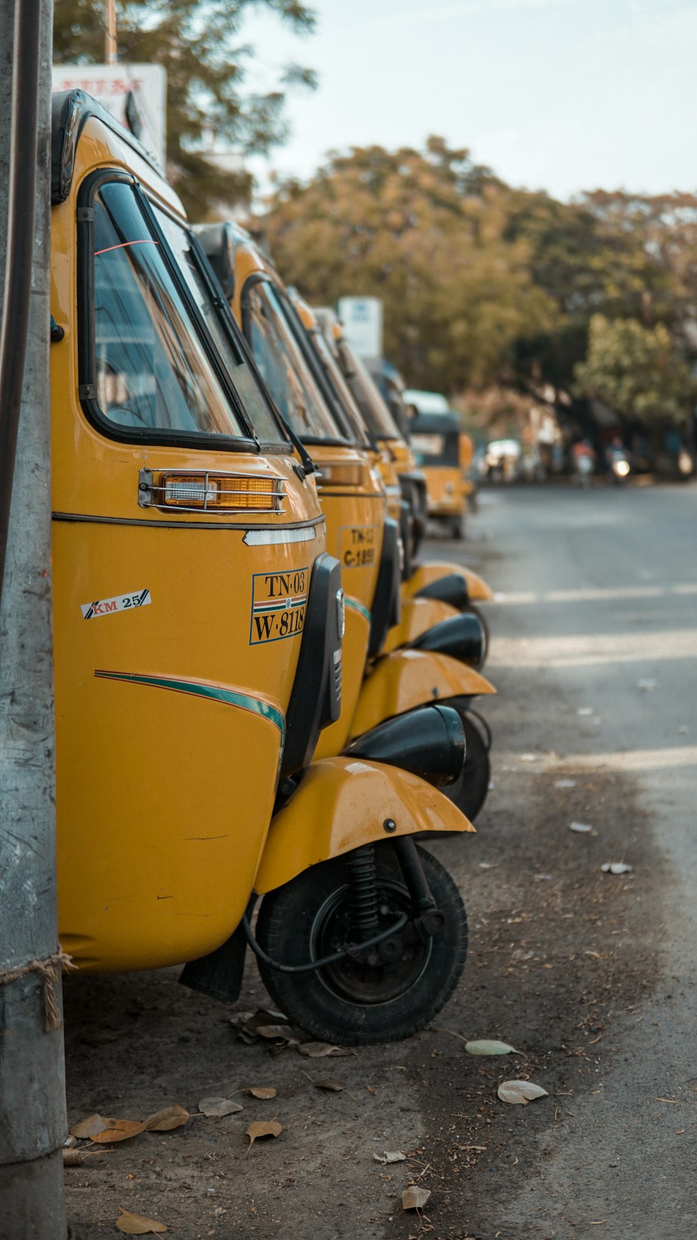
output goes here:
<path id="1" fill-rule="evenodd" d="M 238 343 L 235 339 L 239 329 L 233 316 L 229 315 L 228 324 L 223 325 L 222 322 L 220 311 L 213 301 L 208 281 L 202 272 L 201 249 L 196 246 L 187 228 L 177 223 L 176 219 L 172 219 L 161 208 L 155 207 L 154 210 L 157 223 L 178 262 L 189 293 L 215 342 L 228 377 L 244 403 L 254 425 L 256 438 L 266 444 L 276 444 L 279 439 L 286 439 L 285 432 L 276 423 L 269 399 L 254 373 L 254 368 L 245 357 L 244 345 Z"/>

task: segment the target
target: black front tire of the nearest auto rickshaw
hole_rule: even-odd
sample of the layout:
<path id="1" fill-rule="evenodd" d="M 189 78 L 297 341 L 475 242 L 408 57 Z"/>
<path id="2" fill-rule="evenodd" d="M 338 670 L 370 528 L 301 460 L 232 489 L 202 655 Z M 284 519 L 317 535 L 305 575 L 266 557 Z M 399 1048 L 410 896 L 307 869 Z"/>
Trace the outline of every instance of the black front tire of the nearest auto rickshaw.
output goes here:
<path id="1" fill-rule="evenodd" d="M 401 957 L 378 967 L 344 957 L 311 973 L 280 973 L 259 961 L 274 1003 L 321 1042 L 368 1047 L 399 1042 L 423 1029 L 453 993 L 467 956 L 467 914 L 459 890 L 431 853 L 418 849 L 444 928 L 433 939 L 405 944 Z M 375 846 L 380 925 L 410 910 L 410 897 L 389 841 Z M 349 937 L 348 868 L 337 857 L 303 870 L 264 897 L 256 939 L 284 965 L 329 955 Z M 386 910 L 386 911 L 383 911 Z"/>

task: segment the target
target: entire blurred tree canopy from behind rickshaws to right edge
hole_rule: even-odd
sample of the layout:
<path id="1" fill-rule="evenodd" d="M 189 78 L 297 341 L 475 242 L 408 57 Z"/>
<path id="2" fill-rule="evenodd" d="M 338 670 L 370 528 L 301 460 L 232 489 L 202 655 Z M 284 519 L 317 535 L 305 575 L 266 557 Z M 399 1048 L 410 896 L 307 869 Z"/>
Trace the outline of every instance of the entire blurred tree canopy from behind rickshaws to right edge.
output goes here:
<path id="1" fill-rule="evenodd" d="M 255 227 L 311 301 L 381 298 L 385 353 L 416 387 L 504 419 L 555 393 L 644 424 L 692 408 L 696 196 L 558 202 L 430 138 L 331 154 L 281 184 Z"/>

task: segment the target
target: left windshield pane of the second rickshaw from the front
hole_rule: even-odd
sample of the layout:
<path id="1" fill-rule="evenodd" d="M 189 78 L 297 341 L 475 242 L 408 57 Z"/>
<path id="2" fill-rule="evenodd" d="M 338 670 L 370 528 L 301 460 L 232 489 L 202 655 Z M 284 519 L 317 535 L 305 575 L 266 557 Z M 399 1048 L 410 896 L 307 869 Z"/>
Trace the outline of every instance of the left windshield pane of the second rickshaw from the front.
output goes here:
<path id="1" fill-rule="evenodd" d="M 295 433 L 301 439 L 343 439 L 269 280 L 250 285 L 244 315 L 259 372 Z"/>

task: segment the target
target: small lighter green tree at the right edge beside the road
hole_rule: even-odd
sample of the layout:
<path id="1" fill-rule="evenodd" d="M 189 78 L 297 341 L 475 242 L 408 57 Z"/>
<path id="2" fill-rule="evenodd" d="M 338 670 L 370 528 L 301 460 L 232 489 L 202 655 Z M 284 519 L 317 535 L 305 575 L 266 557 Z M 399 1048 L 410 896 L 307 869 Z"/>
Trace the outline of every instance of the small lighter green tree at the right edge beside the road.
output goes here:
<path id="1" fill-rule="evenodd" d="M 680 425 L 697 396 L 697 382 L 665 324 L 593 315 L 586 361 L 576 366 L 577 391 L 602 401 L 645 429 Z"/>

